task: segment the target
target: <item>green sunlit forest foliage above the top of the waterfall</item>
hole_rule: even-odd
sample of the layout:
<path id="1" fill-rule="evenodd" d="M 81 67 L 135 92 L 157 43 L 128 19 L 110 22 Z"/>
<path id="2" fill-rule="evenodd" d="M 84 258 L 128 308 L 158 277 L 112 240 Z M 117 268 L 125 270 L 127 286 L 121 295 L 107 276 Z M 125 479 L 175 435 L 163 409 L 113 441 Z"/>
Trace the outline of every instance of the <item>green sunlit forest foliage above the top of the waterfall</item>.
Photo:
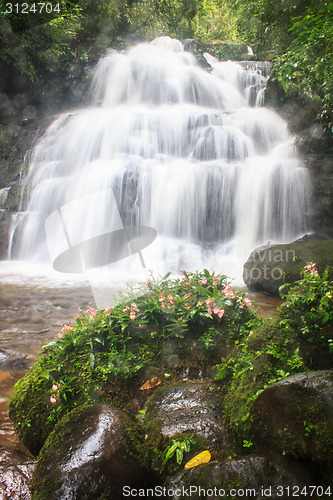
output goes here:
<path id="1" fill-rule="evenodd" d="M 32 3 L 30 0 L 28 4 Z M 332 127 L 333 25 L 325 0 L 50 0 L 59 13 L 5 13 L 0 1 L 0 57 L 36 81 L 96 59 L 119 39 L 169 35 L 199 42 L 246 43 L 270 55 L 287 95 L 307 93 Z M 22 2 L 20 2 L 22 4 Z M 13 3 L 14 5 L 14 3 Z M 20 9 L 19 9 L 20 10 Z"/>

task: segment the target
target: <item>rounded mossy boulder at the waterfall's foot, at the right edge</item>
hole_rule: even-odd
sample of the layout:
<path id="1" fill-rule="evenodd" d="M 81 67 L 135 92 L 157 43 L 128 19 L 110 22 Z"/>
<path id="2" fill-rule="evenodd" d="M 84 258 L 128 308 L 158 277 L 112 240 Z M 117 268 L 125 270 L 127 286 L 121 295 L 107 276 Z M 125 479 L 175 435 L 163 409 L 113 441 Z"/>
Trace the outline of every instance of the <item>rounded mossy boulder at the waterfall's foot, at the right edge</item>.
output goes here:
<path id="1" fill-rule="evenodd" d="M 315 262 L 319 273 L 323 273 L 326 266 L 333 268 L 333 240 L 311 239 L 310 236 L 293 243 L 266 245 L 254 250 L 243 269 L 247 287 L 279 295 L 279 288 L 284 283 L 294 283 L 300 279 L 307 262 Z"/>

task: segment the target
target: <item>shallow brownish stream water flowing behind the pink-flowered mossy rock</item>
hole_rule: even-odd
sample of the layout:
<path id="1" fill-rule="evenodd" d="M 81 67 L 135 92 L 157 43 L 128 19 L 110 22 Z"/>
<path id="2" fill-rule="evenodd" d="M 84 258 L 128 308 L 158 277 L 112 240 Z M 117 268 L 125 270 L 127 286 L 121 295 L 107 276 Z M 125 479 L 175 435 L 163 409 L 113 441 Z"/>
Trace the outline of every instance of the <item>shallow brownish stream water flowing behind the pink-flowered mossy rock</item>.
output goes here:
<path id="1" fill-rule="evenodd" d="M 24 284 L 13 281 L 0 281 L 0 350 L 15 351 L 31 365 L 42 345 L 59 333 L 61 326 L 75 316 L 78 307 L 84 310 L 88 305 L 95 305 L 94 296 L 86 283 L 52 288 L 42 287 L 37 279 L 35 283 L 25 279 Z M 249 293 L 249 298 L 258 304 L 264 317 L 273 315 L 281 303 L 280 299 L 261 293 Z M 19 362 L 14 369 L 6 366 L 2 371 L 0 363 L 0 444 L 24 450 L 8 417 L 8 398 L 28 366 L 20 368 Z"/>

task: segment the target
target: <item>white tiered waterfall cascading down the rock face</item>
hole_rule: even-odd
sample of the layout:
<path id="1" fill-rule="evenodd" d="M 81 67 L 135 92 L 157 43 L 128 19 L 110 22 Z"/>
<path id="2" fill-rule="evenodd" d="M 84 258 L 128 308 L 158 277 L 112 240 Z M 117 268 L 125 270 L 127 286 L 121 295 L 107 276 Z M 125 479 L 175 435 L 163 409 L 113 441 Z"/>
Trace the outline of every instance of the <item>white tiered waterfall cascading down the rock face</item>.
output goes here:
<path id="1" fill-rule="evenodd" d="M 11 258 L 47 261 L 45 220 L 75 200 L 72 241 L 98 233 L 110 188 L 124 225 L 156 229 L 145 258 L 157 272 L 239 278 L 254 247 L 305 232 L 306 169 L 286 123 L 260 106 L 269 67 L 206 59 L 211 72 L 164 37 L 100 61 L 91 106 L 61 115 L 33 151 Z M 80 202 L 94 193 L 98 207 Z"/>

